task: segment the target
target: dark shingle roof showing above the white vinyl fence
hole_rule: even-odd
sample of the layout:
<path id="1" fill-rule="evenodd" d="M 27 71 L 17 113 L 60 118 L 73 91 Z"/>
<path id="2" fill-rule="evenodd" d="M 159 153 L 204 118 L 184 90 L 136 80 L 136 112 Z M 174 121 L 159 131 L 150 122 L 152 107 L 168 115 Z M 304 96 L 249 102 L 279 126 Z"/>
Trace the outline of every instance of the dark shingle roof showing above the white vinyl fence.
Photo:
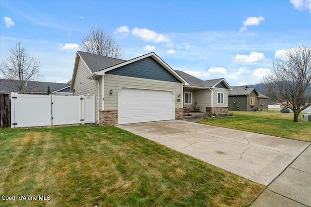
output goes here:
<path id="1" fill-rule="evenodd" d="M 18 80 L 14 80 L 14 81 L 18 82 Z M 48 86 L 50 86 L 51 93 L 53 93 L 55 91 L 69 87 L 70 84 L 41 82 L 41 81 L 27 81 L 27 86 L 24 85 L 24 92 L 47 93 Z M 68 90 L 62 90 L 62 92 L 67 92 L 67 91 Z M 11 80 L 0 79 L 0 92 L 18 92 L 18 89 Z"/>

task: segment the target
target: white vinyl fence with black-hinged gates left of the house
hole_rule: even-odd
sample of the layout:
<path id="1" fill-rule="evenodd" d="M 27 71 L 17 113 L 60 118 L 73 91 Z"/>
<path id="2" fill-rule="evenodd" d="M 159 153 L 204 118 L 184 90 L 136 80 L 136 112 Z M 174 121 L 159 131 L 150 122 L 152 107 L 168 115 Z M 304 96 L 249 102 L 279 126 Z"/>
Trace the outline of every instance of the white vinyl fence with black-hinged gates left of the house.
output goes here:
<path id="1" fill-rule="evenodd" d="M 95 123 L 94 96 L 11 93 L 11 127 Z"/>

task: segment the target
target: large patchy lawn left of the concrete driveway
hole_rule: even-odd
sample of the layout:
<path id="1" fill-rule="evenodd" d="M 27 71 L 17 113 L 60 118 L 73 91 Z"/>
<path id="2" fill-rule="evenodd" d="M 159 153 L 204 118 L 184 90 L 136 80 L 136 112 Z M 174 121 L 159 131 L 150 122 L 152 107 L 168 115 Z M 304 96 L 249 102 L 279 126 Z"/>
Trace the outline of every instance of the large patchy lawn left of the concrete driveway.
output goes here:
<path id="1" fill-rule="evenodd" d="M 264 186 L 117 127 L 0 129 L 9 206 L 249 206 Z"/>

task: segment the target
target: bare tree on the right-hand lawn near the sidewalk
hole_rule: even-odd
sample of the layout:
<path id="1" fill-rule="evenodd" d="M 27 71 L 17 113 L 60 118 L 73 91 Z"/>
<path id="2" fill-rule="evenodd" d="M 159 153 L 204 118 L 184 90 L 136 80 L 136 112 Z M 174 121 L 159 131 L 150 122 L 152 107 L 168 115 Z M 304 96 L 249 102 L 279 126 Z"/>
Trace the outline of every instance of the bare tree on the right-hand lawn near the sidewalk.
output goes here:
<path id="1" fill-rule="evenodd" d="M 273 63 L 273 72 L 263 81 L 269 86 L 269 96 L 290 108 L 297 122 L 299 113 L 311 106 L 311 48 L 290 49 L 285 55 Z"/>

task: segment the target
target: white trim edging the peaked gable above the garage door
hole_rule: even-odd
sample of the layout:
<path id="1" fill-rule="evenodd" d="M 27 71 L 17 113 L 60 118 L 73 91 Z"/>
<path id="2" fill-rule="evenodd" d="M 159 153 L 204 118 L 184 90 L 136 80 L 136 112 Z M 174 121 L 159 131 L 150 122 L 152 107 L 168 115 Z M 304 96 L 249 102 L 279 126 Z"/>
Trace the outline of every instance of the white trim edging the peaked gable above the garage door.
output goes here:
<path id="1" fill-rule="evenodd" d="M 142 55 L 142 56 L 140 56 L 140 57 L 134 58 L 134 59 L 129 60 L 129 61 L 125 61 L 125 62 L 123 62 L 123 63 L 121 63 L 121 64 L 117 64 L 117 65 L 108 67 L 108 68 L 106 68 L 106 69 L 97 71 L 97 72 L 95 72 L 95 73 L 96 73 L 96 75 L 104 76 L 104 74 L 105 74 L 106 72 L 110 71 L 110 70 L 119 68 L 119 67 L 124 66 L 124 65 L 127 65 L 127 64 L 134 63 L 134 62 L 136 62 L 136 61 L 142 60 L 142 59 L 147 58 L 147 57 L 152 57 L 153 59 L 155 59 L 156 62 L 158 62 L 158 63 L 161 64 L 165 69 L 167 69 L 175 78 L 177 78 L 178 80 L 180 80 L 183 84 L 189 85 L 189 83 L 188 83 L 186 80 L 184 80 L 183 78 L 181 78 L 168 64 L 166 64 L 166 63 L 165 63 L 161 58 L 159 58 L 154 52 L 151 52 L 151 53 Z"/>

